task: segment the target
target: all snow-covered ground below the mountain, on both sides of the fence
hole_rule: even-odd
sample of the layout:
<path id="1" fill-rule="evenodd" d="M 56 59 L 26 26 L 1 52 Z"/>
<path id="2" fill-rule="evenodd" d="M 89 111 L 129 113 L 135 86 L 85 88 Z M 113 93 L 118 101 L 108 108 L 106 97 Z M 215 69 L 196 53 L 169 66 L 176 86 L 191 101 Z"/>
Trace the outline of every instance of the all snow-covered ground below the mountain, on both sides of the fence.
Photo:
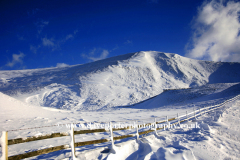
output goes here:
<path id="1" fill-rule="evenodd" d="M 229 92 L 229 93 L 228 93 Z M 232 94 L 230 94 L 230 92 Z M 43 127 L 66 123 L 109 122 L 121 121 L 131 123 L 139 120 L 153 122 L 155 117 L 165 118 L 166 115 L 176 116 L 177 113 L 193 111 L 199 108 L 221 103 L 226 99 L 238 95 L 239 83 L 211 84 L 193 89 L 165 91 L 159 96 L 130 107 L 110 108 L 106 111 L 65 111 L 32 106 L 23 103 L 5 94 L 0 94 L 1 131 L 9 131 L 9 139 L 37 136 L 52 132 L 69 132 L 66 127 Z M 167 97 L 176 97 L 169 105 L 156 107 L 159 100 Z M 188 97 L 188 98 L 186 98 Z M 166 100 L 169 101 L 169 100 Z M 155 107 L 143 108 L 144 103 Z M 79 159 L 238 159 L 239 149 L 239 103 L 235 101 L 199 117 L 200 129 L 169 129 L 158 131 L 158 135 L 149 134 L 136 141 L 136 137 L 116 141 L 115 154 L 101 153 L 110 146 L 110 142 L 76 148 Z M 8 107 L 5 107 L 8 106 Z M 146 107 L 148 107 L 146 105 Z M 220 116 L 221 115 L 221 116 Z M 150 120 L 146 120 L 149 119 Z M 160 120 L 160 118 L 158 118 Z M 33 128 L 19 130 L 25 128 Z M 114 135 L 135 134 L 136 130 L 115 131 Z M 92 133 L 76 135 L 76 142 L 89 141 L 101 138 L 110 138 L 110 133 Z M 53 138 L 42 141 L 33 141 L 9 146 L 9 156 L 30 152 L 38 149 L 70 144 L 70 137 Z M 71 149 L 52 152 L 29 159 L 69 159 Z"/>

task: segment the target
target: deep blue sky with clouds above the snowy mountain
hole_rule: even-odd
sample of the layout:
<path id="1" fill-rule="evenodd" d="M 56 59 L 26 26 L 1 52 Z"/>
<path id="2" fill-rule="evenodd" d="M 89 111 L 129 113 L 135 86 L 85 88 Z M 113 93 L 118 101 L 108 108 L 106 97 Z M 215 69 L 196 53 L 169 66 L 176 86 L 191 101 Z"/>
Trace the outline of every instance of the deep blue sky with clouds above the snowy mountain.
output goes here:
<path id="1" fill-rule="evenodd" d="M 233 9 L 239 3 L 232 2 L 230 6 L 227 2 L 203 2 L 1 0 L 0 69 L 61 67 L 148 50 L 207 60 L 231 61 L 229 55 L 238 58 L 240 48 L 235 45 L 239 40 L 238 32 L 232 33 L 237 36 L 227 46 L 229 49 L 234 45 L 234 50 L 226 50 L 229 52 L 228 58 L 224 59 L 225 52 L 220 57 L 216 57 L 219 54 L 214 55 L 221 49 L 219 46 L 223 46 L 223 38 L 218 37 L 216 40 L 219 33 L 210 32 L 209 28 L 216 29 L 215 23 L 221 24 L 224 14 L 223 17 L 213 17 L 214 22 L 210 19 L 211 23 L 201 20 L 201 16 L 205 20 L 204 16 L 210 17 L 215 12 L 224 13 L 228 6 Z M 219 5 L 217 9 L 213 7 L 216 4 Z M 238 6 L 235 11 L 239 12 Z M 219 13 L 217 15 L 221 15 Z M 238 30 L 236 14 L 232 14 L 232 19 L 225 17 Z M 212 39 L 206 42 L 204 37 L 211 34 Z"/>

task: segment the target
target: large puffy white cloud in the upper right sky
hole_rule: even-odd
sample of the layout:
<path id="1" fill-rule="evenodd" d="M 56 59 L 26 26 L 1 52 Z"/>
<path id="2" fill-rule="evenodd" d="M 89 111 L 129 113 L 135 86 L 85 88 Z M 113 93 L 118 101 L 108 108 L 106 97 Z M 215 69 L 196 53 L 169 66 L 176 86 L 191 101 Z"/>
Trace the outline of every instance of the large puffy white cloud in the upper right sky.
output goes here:
<path id="1" fill-rule="evenodd" d="M 186 56 L 213 61 L 240 61 L 240 2 L 211 1 L 199 8 Z"/>

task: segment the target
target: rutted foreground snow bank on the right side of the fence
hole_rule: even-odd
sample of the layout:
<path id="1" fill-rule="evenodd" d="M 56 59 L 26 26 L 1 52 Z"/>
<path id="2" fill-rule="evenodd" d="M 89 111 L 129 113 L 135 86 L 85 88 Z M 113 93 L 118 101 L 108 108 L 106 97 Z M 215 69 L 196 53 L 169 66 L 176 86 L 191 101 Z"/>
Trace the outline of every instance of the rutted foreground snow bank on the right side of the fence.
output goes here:
<path id="1" fill-rule="evenodd" d="M 219 160 L 239 159 L 240 101 L 235 101 L 216 112 L 197 120 L 200 128 L 175 128 L 119 143 L 116 153 L 103 154 L 101 150 L 80 153 L 81 159 L 108 160 Z"/>

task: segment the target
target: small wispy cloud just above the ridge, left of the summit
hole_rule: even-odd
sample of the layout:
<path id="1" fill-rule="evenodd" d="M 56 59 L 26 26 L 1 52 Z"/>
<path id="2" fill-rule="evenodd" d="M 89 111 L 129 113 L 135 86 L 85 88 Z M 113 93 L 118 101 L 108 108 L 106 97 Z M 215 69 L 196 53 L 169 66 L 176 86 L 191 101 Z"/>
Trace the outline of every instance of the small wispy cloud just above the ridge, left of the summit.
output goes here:
<path id="1" fill-rule="evenodd" d="M 108 55 L 109 55 L 108 50 L 94 48 L 87 55 L 82 54 L 82 57 L 90 59 L 92 61 L 98 61 L 98 60 L 107 58 Z"/>

